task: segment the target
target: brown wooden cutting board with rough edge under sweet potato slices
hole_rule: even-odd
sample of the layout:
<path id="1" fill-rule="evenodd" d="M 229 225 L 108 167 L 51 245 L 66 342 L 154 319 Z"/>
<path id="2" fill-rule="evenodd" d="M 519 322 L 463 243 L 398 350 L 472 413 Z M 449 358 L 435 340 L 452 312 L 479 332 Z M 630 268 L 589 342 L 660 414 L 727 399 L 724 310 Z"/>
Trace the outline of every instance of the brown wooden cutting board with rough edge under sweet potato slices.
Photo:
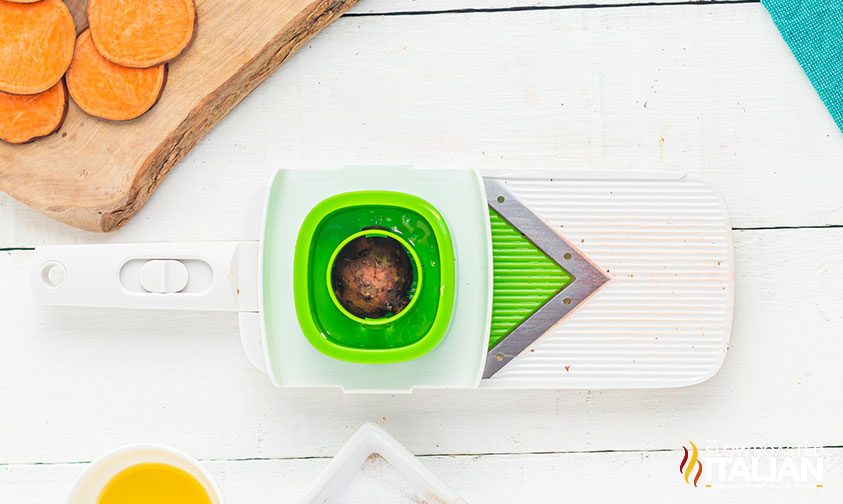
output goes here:
<path id="1" fill-rule="evenodd" d="M 196 0 L 193 42 L 151 111 L 118 123 L 71 102 L 57 134 L 0 142 L 0 190 L 71 226 L 119 228 L 208 130 L 356 1 Z M 87 2 L 66 2 L 82 31 Z"/>

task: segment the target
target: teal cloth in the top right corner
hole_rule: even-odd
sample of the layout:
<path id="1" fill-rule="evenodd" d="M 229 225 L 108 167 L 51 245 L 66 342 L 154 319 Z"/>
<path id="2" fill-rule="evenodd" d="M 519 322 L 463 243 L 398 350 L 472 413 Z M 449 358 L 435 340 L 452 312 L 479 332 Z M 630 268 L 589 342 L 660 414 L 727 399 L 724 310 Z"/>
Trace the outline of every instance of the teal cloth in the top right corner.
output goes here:
<path id="1" fill-rule="evenodd" d="M 761 0 L 843 131 L 843 0 Z"/>

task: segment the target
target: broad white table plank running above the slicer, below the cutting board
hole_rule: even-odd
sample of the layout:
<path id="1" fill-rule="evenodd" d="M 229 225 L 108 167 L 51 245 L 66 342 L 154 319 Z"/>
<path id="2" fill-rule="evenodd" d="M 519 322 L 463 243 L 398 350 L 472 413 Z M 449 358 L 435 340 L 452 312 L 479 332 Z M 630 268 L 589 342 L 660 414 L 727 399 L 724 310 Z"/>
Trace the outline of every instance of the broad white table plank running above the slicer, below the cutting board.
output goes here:
<path id="1" fill-rule="evenodd" d="M 0 195 L 0 247 L 231 239 L 277 167 L 367 162 L 683 171 L 721 187 L 738 227 L 824 225 L 843 222 L 842 158 L 760 4 L 346 17 L 124 231 L 73 230 Z"/>

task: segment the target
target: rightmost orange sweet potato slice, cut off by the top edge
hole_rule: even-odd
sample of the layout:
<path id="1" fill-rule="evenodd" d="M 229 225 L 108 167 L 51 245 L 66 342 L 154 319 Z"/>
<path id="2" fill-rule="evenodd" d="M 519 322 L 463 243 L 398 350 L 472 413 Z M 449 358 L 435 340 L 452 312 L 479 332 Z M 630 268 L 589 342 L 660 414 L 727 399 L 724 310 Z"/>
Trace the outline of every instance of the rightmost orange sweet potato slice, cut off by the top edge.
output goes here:
<path id="1" fill-rule="evenodd" d="M 105 59 L 148 68 L 178 56 L 193 38 L 193 0 L 89 0 L 88 26 Z"/>

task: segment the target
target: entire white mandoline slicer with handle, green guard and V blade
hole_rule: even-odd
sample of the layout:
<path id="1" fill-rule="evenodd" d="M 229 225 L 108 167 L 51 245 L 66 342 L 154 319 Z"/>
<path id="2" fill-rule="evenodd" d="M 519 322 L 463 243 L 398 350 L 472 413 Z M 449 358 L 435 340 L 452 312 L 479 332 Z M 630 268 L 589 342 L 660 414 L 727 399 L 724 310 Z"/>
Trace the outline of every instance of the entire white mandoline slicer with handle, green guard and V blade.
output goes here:
<path id="1" fill-rule="evenodd" d="M 277 386 L 677 387 L 728 348 L 728 213 L 684 174 L 282 170 L 246 222 L 239 242 L 38 247 L 33 289 L 50 305 L 239 312 Z M 411 256 L 401 313 L 361 319 L 332 292 L 361 235 Z"/>

